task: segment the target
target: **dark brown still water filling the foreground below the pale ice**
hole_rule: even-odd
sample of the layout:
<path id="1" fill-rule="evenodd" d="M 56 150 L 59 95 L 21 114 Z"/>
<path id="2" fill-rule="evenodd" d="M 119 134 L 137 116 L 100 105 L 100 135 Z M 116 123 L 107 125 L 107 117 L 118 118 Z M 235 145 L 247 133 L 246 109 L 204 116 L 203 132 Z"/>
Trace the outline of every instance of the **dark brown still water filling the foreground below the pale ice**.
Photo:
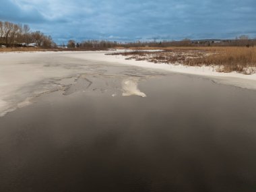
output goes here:
<path id="1" fill-rule="evenodd" d="M 256 191 L 256 92 L 108 72 L 0 119 L 0 191 Z"/>

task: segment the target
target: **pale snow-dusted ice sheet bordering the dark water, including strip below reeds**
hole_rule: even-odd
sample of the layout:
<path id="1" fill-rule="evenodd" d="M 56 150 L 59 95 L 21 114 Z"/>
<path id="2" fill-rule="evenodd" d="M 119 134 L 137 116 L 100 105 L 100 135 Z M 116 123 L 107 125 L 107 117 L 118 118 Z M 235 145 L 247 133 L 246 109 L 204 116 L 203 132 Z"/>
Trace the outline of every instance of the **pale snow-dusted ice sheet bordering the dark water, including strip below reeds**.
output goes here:
<path id="1" fill-rule="evenodd" d="M 256 74 L 218 73 L 213 67 L 125 60 L 121 55 L 105 55 L 106 53 L 111 52 L 0 53 L 0 117 L 8 111 L 30 104 L 30 100 L 40 94 L 56 90 L 63 90 L 67 95 L 72 94 L 77 91 L 77 83 L 82 92 L 103 93 L 107 92 L 106 87 L 112 86 L 115 89 L 110 91 L 110 96 L 117 96 L 120 88 L 124 96 L 145 97 L 146 94 L 137 87 L 139 78 L 157 77 L 168 71 L 201 75 L 220 84 L 256 89 Z M 132 65 L 137 67 L 131 67 Z M 86 77 L 80 76 L 83 73 L 87 74 Z M 92 84 L 89 88 L 88 74 L 91 74 L 91 82 L 94 74 L 101 75 L 102 84 Z M 119 79 L 120 82 L 115 82 L 114 79 Z M 121 83 L 123 79 L 125 80 Z"/>

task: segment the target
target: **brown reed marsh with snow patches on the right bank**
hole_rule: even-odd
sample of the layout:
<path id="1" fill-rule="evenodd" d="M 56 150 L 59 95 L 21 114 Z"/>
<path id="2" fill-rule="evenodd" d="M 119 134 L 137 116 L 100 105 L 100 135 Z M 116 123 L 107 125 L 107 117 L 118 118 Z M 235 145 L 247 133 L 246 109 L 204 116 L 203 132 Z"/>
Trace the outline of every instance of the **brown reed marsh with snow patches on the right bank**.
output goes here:
<path id="1" fill-rule="evenodd" d="M 143 48 L 145 49 L 145 47 Z M 148 50 L 159 48 L 147 47 Z M 153 63 L 168 63 L 189 66 L 214 66 L 219 72 L 252 74 L 256 72 L 256 47 L 167 47 L 162 52 L 134 51 L 115 53 L 127 56 L 127 59 L 146 60 Z"/>

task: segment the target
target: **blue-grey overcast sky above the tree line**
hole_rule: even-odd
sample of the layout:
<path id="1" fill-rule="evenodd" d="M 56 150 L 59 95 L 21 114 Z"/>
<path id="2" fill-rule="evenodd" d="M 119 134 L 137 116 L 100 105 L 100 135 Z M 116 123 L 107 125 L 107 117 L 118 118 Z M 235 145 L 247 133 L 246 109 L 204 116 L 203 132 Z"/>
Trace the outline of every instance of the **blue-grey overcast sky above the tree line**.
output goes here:
<path id="1" fill-rule="evenodd" d="M 0 0 L 0 20 L 55 42 L 256 38 L 256 0 Z"/>

